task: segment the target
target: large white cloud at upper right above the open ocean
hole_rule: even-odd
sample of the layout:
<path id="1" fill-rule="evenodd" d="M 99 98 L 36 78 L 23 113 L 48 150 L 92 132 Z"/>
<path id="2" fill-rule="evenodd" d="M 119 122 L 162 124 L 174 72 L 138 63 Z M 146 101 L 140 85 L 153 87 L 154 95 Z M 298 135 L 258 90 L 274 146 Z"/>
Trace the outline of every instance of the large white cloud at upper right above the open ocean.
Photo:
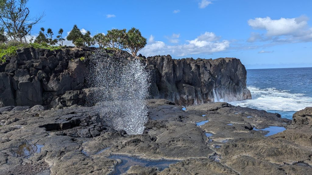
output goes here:
<path id="1" fill-rule="evenodd" d="M 257 30 L 265 30 L 266 33 L 252 32 L 247 41 L 312 41 L 312 28 L 308 27 L 308 20 L 309 18 L 306 16 L 280 19 L 271 19 L 270 17 L 250 19 L 248 20 L 249 26 Z"/>

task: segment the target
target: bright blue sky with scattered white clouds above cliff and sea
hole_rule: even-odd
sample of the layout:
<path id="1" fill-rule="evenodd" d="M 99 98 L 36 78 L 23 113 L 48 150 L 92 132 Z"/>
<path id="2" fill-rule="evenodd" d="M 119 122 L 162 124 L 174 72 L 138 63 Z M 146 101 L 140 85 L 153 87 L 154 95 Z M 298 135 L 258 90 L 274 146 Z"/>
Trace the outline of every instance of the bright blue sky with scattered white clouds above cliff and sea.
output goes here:
<path id="1" fill-rule="evenodd" d="M 106 33 L 138 28 L 148 39 L 145 56 L 235 57 L 247 69 L 312 67 L 310 0 L 29 0 L 34 27 Z M 70 41 L 66 41 L 70 45 Z"/>

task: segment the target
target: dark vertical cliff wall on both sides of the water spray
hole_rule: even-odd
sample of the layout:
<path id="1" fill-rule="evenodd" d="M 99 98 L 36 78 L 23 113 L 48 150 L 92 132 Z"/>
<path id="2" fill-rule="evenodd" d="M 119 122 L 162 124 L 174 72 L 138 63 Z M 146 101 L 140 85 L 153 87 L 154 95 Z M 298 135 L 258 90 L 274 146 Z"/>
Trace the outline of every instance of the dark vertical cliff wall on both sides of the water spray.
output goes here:
<path id="1" fill-rule="evenodd" d="M 18 50 L 16 57 L 0 64 L 0 107 L 85 105 L 86 97 L 92 94 L 87 83 L 91 52 L 90 48 Z M 110 56 L 107 53 L 106 57 Z M 151 98 L 166 98 L 179 105 L 251 98 L 246 69 L 239 59 L 177 60 L 168 55 L 146 60 Z"/>

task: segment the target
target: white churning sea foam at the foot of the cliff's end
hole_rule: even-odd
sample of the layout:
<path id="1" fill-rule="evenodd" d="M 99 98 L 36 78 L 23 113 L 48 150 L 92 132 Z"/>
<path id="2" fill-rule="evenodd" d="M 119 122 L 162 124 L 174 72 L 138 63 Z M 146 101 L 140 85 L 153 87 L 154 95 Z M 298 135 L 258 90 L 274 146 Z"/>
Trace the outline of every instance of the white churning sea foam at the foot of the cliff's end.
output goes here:
<path id="1" fill-rule="evenodd" d="M 229 103 L 234 106 L 251 107 L 266 111 L 299 111 L 312 106 L 312 97 L 307 97 L 305 94 L 290 93 L 287 90 L 277 90 L 275 88 L 248 87 L 248 89 L 251 92 L 252 99 Z"/>

